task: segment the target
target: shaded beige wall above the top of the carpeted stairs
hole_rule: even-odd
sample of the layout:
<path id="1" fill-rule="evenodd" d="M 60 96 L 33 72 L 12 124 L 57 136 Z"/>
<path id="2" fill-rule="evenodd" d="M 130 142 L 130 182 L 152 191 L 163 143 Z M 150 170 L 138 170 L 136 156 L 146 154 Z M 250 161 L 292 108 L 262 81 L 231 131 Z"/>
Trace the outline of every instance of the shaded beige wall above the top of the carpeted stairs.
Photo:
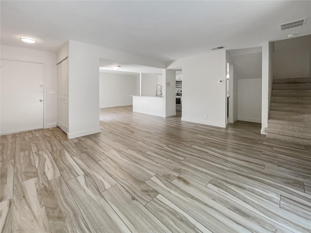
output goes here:
<path id="1" fill-rule="evenodd" d="M 274 42 L 274 79 L 311 77 L 311 35 Z"/>

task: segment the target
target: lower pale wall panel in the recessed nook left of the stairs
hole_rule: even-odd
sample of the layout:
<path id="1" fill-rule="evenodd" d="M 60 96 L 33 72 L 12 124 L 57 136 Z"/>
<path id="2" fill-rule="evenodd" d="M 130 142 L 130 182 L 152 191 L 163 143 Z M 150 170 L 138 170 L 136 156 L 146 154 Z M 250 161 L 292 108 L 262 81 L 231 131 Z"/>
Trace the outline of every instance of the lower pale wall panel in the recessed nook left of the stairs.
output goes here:
<path id="1" fill-rule="evenodd" d="M 239 120 L 261 123 L 261 79 L 239 79 Z"/>

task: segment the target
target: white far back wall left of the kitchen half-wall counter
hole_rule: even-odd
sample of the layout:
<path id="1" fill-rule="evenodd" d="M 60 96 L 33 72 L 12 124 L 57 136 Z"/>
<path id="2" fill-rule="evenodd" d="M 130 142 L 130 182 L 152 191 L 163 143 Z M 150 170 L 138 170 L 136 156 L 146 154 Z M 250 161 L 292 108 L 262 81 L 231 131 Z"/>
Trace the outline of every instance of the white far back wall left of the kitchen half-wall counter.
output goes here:
<path id="1" fill-rule="evenodd" d="M 100 72 L 100 108 L 132 105 L 131 95 L 137 95 L 137 75 Z"/>

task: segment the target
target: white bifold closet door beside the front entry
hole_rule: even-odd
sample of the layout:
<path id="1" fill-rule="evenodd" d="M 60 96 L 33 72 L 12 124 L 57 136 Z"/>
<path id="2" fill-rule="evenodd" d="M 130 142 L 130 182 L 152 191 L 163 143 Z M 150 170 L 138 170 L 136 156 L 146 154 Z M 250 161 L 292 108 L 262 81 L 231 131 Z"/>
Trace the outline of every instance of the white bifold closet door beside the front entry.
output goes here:
<path id="1" fill-rule="evenodd" d="M 68 59 L 57 65 L 57 126 L 68 133 Z"/>

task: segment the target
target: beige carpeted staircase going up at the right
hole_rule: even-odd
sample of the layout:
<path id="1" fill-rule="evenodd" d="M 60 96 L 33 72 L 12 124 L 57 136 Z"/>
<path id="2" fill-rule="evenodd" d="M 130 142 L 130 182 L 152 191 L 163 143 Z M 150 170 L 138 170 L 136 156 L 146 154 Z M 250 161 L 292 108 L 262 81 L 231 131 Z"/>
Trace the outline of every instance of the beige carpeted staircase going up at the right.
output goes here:
<path id="1" fill-rule="evenodd" d="M 275 79 L 267 138 L 311 146 L 311 78 Z"/>

